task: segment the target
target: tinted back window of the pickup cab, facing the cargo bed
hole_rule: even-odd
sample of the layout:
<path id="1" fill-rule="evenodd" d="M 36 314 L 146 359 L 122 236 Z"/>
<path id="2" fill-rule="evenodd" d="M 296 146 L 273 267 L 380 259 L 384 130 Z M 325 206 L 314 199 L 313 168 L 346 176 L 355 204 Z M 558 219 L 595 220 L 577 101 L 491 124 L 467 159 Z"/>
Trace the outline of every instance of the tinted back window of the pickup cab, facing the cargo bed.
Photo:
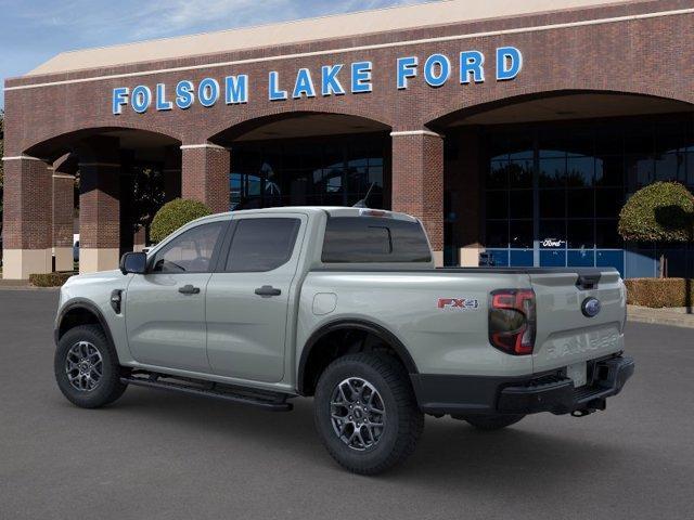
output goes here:
<path id="1" fill-rule="evenodd" d="M 323 239 L 324 263 L 429 262 L 432 252 L 419 222 L 376 217 L 333 217 Z"/>

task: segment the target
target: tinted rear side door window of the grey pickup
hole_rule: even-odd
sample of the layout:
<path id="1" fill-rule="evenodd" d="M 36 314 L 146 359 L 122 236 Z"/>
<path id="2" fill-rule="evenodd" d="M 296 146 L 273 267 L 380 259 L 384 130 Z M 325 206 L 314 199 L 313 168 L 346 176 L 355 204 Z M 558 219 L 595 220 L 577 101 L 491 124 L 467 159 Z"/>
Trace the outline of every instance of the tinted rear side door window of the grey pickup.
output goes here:
<path id="1" fill-rule="evenodd" d="M 299 219 L 290 218 L 239 220 L 224 271 L 272 271 L 288 262 L 300 225 Z"/>

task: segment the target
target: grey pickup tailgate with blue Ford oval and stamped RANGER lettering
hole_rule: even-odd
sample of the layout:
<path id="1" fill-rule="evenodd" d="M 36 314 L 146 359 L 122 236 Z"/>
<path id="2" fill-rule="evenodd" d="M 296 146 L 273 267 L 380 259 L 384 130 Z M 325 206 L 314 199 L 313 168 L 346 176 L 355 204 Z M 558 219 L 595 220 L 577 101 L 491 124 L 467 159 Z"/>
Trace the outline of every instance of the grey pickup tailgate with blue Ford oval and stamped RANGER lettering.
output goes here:
<path id="1" fill-rule="evenodd" d="M 571 377 L 570 370 L 581 369 L 580 362 L 622 350 L 626 295 L 617 271 L 590 268 L 528 274 L 537 298 L 535 373 L 569 367 Z M 592 316 L 583 312 L 589 299 L 599 301 L 599 312 Z M 597 306 L 592 303 L 594 312 Z"/>

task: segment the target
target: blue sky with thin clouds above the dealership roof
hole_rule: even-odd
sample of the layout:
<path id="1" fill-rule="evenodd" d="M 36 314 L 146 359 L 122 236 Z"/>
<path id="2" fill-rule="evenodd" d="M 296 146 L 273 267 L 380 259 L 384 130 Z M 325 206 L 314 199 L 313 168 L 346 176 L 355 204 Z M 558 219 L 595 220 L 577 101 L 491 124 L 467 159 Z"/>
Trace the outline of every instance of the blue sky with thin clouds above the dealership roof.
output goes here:
<path id="1" fill-rule="evenodd" d="M 0 0 L 0 82 L 64 51 L 422 1 Z"/>

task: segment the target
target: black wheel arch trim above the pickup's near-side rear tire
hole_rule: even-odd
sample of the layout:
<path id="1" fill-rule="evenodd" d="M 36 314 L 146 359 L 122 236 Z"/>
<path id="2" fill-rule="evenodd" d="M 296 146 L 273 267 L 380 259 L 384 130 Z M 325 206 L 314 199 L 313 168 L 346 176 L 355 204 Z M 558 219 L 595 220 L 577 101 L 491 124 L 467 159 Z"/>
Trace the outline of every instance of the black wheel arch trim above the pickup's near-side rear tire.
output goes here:
<path id="1" fill-rule="evenodd" d="M 335 320 L 322 325 L 320 328 L 314 330 L 304 344 L 297 370 L 297 391 L 300 395 L 310 395 L 312 393 L 311 382 L 309 381 L 309 362 L 313 359 L 312 354 L 317 352 L 317 349 L 320 350 L 321 342 L 335 333 L 346 333 L 349 330 L 365 333 L 375 338 L 378 338 L 390 349 L 393 349 L 398 361 L 402 363 L 409 374 L 419 374 L 416 364 L 414 363 L 414 360 L 412 359 L 412 355 L 408 351 L 407 347 L 395 334 L 393 334 L 387 328 L 367 320 Z"/>

